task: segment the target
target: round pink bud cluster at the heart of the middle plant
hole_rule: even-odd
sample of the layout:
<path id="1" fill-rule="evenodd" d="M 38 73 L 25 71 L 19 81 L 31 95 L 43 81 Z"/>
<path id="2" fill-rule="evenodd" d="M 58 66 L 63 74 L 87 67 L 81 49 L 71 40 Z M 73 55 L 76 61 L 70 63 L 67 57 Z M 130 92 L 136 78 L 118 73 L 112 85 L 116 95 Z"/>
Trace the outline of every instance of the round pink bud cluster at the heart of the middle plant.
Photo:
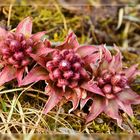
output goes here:
<path id="1" fill-rule="evenodd" d="M 46 63 L 50 79 L 55 81 L 58 87 L 70 88 L 76 87 L 81 80 L 89 78 L 83 65 L 84 62 L 73 49 L 55 51 L 52 60 Z"/>

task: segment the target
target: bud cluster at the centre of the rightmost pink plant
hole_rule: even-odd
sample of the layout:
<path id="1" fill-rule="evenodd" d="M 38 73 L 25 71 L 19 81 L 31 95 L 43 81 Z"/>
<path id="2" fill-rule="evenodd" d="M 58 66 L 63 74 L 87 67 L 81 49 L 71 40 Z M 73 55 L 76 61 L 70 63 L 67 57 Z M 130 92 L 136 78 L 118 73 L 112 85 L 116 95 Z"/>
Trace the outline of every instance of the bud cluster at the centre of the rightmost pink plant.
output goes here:
<path id="1" fill-rule="evenodd" d="M 116 94 L 127 86 L 127 78 L 125 74 L 113 74 L 108 71 L 103 71 L 101 76 L 97 78 L 98 86 L 104 94 Z"/>

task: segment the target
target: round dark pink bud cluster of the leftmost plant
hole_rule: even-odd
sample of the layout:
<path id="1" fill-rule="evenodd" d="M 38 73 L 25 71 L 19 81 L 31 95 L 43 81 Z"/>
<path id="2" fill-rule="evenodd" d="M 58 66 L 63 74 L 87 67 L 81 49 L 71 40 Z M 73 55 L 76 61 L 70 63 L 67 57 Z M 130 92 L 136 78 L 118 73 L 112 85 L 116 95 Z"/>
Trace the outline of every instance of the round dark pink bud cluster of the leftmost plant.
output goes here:
<path id="1" fill-rule="evenodd" d="M 28 53 L 32 52 L 33 44 L 33 40 L 31 38 L 26 39 L 22 33 L 8 33 L 2 44 L 2 60 L 15 68 L 27 66 L 30 63 Z"/>

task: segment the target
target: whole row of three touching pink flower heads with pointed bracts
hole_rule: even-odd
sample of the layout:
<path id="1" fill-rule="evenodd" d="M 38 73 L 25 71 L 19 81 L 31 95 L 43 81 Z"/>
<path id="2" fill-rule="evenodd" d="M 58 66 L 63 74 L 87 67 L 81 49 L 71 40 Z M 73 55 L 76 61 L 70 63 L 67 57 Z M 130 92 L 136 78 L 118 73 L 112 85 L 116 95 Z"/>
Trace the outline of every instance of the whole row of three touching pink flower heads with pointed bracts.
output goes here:
<path id="1" fill-rule="evenodd" d="M 45 32 L 32 35 L 31 31 L 29 17 L 19 23 L 15 32 L 0 28 L 0 85 L 13 79 L 17 79 L 18 86 L 44 80 L 49 96 L 45 114 L 64 100 L 72 102 L 71 112 L 78 106 L 82 109 L 91 99 L 87 123 L 104 112 L 121 127 L 119 111 L 133 115 L 131 105 L 139 104 L 140 96 L 130 84 L 140 72 L 137 65 L 123 68 L 116 46 L 115 55 L 105 45 L 80 46 L 70 31 L 64 43 L 51 47 L 49 40 L 42 39 Z"/>

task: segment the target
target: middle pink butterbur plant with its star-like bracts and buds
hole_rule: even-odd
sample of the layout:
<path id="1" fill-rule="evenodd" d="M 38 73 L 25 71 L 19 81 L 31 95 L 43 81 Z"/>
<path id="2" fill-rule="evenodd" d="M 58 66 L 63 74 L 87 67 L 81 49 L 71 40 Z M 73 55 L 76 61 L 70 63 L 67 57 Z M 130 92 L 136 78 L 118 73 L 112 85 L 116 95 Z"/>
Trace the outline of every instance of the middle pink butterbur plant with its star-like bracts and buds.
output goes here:
<path id="1" fill-rule="evenodd" d="M 81 85 L 92 77 L 90 64 L 100 58 L 98 47 L 80 46 L 76 36 L 70 32 L 65 42 L 48 51 L 46 56 L 32 55 L 40 66 L 34 67 L 23 79 L 21 85 L 46 80 L 49 99 L 44 113 L 48 113 L 60 101 L 71 101 L 75 110 L 87 92 Z"/>

